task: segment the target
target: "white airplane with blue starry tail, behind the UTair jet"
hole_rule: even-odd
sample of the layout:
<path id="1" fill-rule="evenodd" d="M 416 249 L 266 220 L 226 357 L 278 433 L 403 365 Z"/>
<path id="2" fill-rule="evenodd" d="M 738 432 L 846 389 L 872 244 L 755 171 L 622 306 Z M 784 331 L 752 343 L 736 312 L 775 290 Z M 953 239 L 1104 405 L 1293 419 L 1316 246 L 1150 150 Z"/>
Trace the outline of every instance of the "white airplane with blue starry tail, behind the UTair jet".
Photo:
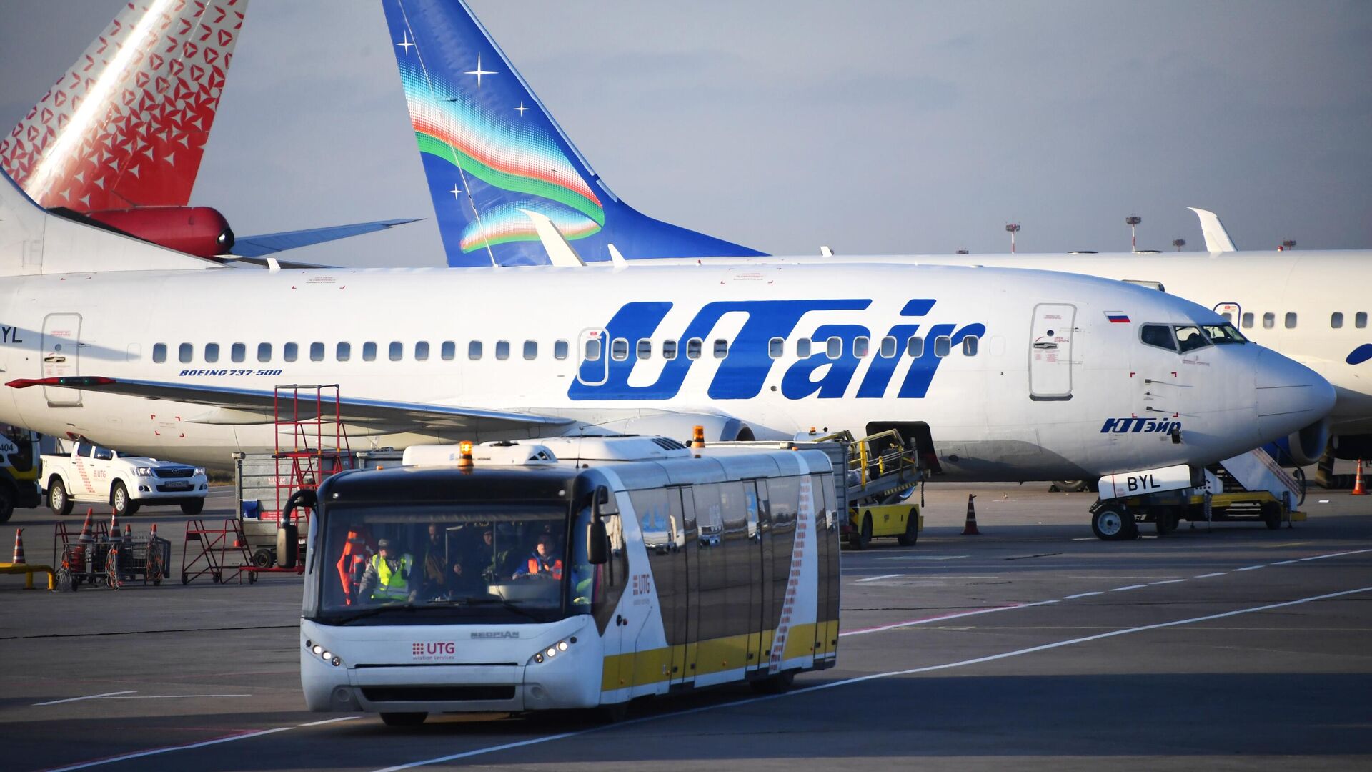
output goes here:
<path id="1" fill-rule="evenodd" d="M 519 126 L 530 121 L 535 126 L 552 126 L 549 137 L 538 147 L 571 148 L 563 139 L 557 122 L 547 114 L 542 103 L 527 89 L 523 78 L 514 73 L 510 62 L 501 54 L 495 43 L 480 26 L 471 10 L 461 3 L 440 3 L 428 0 L 386 0 L 387 21 L 395 38 L 395 58 L 399 62 L 410 115 L 420 136 L 420 147 L 425 155 L 425 172 L 434 207 L 445 234 L 477 232 L 480 223 L 471 206 L 458 206 L 449 183 L 454 173 L 466 166 L 440 161 L 438 147 L 424 126 L 436 125 L 454 136 L 479 137 L 480 147 L 488 157 L 519 157 L 524 147 L 519 135 L 502 130 L 486 130 L 483 121 L 495 121 L 499 126 Z M 428 55 L 428 58 L 425 58 Z M 477 58 L 482 62 L 499 62 L 484 71 L 477 84 L 475 70 Z M 473 70 L 473 71 L 465 71 Z M 428 84 L 442 84 L 429 91 Z M 438 102 L 435 102 L 438 99 Z M 451 104 L 468 107 L 449 107 Z M 517 106 L 516 106 L 517 103 Z M 475 106 L 475 107 L 471 107 Z M 512 107 L 514 106 L 514 107 Z M 477 110 L 479 107 L 479 110 Z M 517 110 L 517 107 L 527 107 Z M 517 111 L 516 111 L 517 110 Z M 438 129 L 434 129 L 435 132 Z M 475 141 L 475 139 L 473 139 Z M 465 158 L 462 146 L 454 146 Z M 531 146 L 532 147 L 532 146 Z M 552 150 L 549 152 L 553 152 Z M 468 154 L 471 155 L 471 154 Z M 594 190 L 601 180 L 589 169 L 575 150 L 567 157 L 543 158 L 543 166 L 557 162 L 563 188 Z M 458 185 L 461 188 L 461 185 Z M 483 188 L 477 188 L 483 190 Z M 519 203 L 512 205 L 516 209 Z M 512 210 L 512 217 L 520 213 Z M 1327 442 L 1331 442 L 1338 457 L 1372 457 L 1372 331 L 1367 328 L 1372 301 L 1364 287 L 1372 283 L 1372 260 L 1365 251 L 1284 251 L 1284 253 L 1236 253 L 1218 217 L 1205 210 L 1196 210 L 1209 249 L 1214 254 L 1008 254 L 1008 256 L 867 256 L 867 257 L 761 257 L 733 262 L 749 265 L 796 264 L 796 262 L 919 262 L 919 264 L 960 264 L 1039 268 L 1088 273 L 1109 279 L 1121 279 L 1146 286 L 1166 288 L 1166 291 L 1199 302 L 1225 315 L 1244 335 L 1301 361 L 1328 379 L 1338 390 L 1339 398 L 1329 423 L 1303 427 L 1281 442 L 1286 459 L 1297 464 L 1309 464 L 1320 457 Z M 576 225 L 569 220 L 553 217 L 554 224 L 569 239 L 576 254 L 557 262 L 579 264 L 613 260 L 619 251 L 628 260 L 654 258 L 663 250 L 654 249 L 653 231 L 639 229 L 637 224 L 624 225 L 606 218 L 594 229 L 600 239 L 586 249 L 576 240 Z M 520 216 L 521 238 L 519 242 L 532 253 L 521 253 L 534 262 L 546 262 L 547 257 L 534 240 L 534 227 Z M 740 256 L 737 251 L 708 251 L 708 236 L 698 235 L 693 251 L 681 257 L 723 258 Z M 628 247 L 632 245 L 632 247 Z M 472 245 L 456 247 L 454 240 L 445 236 L 450 264 L 458 264 L 471 251 Z M 615 247 L 620 247 L 616 250 Z M 1224 250 L 1224 254 L 1218 254 Z M 499 253 L 497 253 L 499 256 Z M 665 260 L 661 262 L 681 262 Z M 689 262 L 696 262 L 690 260 Z M 730 262 L 730 261 L 726 261 Z M 1183 352 L 1174 352 L 1184 359 Z M 1279 453 L 1280 455 L 1280 453 Z"/>

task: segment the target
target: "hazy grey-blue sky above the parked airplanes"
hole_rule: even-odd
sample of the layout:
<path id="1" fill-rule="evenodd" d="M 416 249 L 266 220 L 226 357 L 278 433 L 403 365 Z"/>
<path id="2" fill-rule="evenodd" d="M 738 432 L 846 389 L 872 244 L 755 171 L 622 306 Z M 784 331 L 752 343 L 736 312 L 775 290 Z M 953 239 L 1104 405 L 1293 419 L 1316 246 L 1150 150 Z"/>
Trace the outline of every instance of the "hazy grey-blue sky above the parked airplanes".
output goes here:
<path id="1" fill-rule="evenodd" d="M 121 1 L 0 5 L 12 126 Z M 1372 3 L 472 0 L 624 201 L 778 254 L 1372 247 Z M 192 201 L 432 207 L 380 7 L 252 0 Z M 438 265 L 432 223 L 299 260 Z"/>

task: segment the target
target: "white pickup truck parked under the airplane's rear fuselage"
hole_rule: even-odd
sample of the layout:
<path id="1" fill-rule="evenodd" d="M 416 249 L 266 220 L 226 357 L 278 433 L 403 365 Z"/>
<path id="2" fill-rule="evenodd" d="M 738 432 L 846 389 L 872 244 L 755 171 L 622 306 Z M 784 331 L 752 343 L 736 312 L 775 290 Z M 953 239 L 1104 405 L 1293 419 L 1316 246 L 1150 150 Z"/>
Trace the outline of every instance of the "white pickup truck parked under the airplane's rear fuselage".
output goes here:
<path id="1" fill-rule="evenodd" d="M 210 485 L 200 467 L 121 456 L 89 442 L 67 445 L 73 446 L 70 455 L 43 456 L 43 488 L 58 515 L 71 514 L 80 501 L 110 504 L 121 516 L 144 504 L 180 504 L 188 515 L 204 508 Z"/>

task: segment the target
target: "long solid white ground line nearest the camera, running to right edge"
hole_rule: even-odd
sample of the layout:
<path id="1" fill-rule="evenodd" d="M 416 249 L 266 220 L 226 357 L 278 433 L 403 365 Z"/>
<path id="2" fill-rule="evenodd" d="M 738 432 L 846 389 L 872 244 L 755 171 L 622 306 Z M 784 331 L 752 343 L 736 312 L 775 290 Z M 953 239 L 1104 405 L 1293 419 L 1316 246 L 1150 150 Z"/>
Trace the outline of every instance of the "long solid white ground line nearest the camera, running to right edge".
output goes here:
<path id="1" fill-rule="evenodd" d="M 462 751 L 462 753 L 454 753 L 451 756 L 440 756 L 438 758 L 428 758 L 428 760 L 424 760 L 424 761 L 413 761 L 410 764 L 401 764 L 398 767 L 387 767 L 386 769 L 379 769 L 377 772 L 398 772 L 399 769 L 413 769 L 416 767 L 427 767 L 429 764 L 443 764 L 446 761 L 456 761 L 458 758 L 471 758 L 473 756 L 483 756 L 483 754 L 495 753 L 495 751 L 499 751 L 499 750 L 509 750 L 509 749 L 513 749 L 513 747 L 523 747 L 523 746 L 531 746 L 531 745 L 539 745 L 539 743 L 560 740 L 560 739 L 564 739 L 564 738 L 572 738 L 572 736 L 578 736 L 578 735 L 587 735 L 587 734 L 591 734 L 591 732 L 600 732 L 600 731 L 608 729 L 611 727 L 627 727 L 627 725 L 631 725 L 631 724 L 642 724 L 642 723 L 646 723 L 646 721 L 657 721 L 660 718 L 678 718 L 678 717 L 682 717 L 682 716 L 690 716 L 691 713 L 704 713 L 705 710 L 719 710 L 722 707 L 738 707 L 738 706 L 742 706 L 742 705 L 750 705 L 753 702 L 763 702 L 763 701 L 767 701 L 767 699 L 783 699 L 783 698 L 796 696 L 796 695 L 800 695 L 800 694 L 808 694 L 808 692 L 814 692 L 814 691 L 829 690 L 829 688 L 842 687 L 842 685 L 848 685 L 848 684 L 856 684 L 856 683 L 862 683 L 862 681 L 873 681 L 873 680 L 877 680 L 877 679 L 889 679 L 892 676 L 912 676 L 912 674 L 916 674 L 916 673 L 929 673 L 929 672 L 933 672 L 933 670 L 948 670 L 951 668 L 966 668 L 967 665 L 981 665 L 982 662 L 993 662 L 996 659 L 1007 659 L 1010 657 L 1022 657 L 1025 654 L 1034 654 L 1034 652 L 1039 652 L 1039 651 L 1048 651 L 1051 648 L 1062 648 L 1063 646 L 1074 646 L 1074 644 L 1078 644 L 1078 643 L 1089 643 L 1092 640 L 1100 640 L 1100 639 L 1106 639 L 1106 637 L 1115 637 L 1115 636 L 1121 636 L 1121 635 L 1129 635 L 1129 633 L 1137 633 L 1137 632 L 1146 632 L 1146 631 L 1157 631 L 1157 629 L 1163 629 L 1163 628 L 1174 628 L 1174 626 L 1179 626 L 1179 625 L 1192 625 L 1192 624 L 1196 624 L 1196 622 L 1209 622 L 1209 621 L 1213 621 L 1213 620 L 1222 620 L 1222 618 L 1227 618 L 1227 617 L 1236 617 L 1239 614 L 1254 614 L 1257 611 L 1269 611 L 1272 609 L 1283 609 L 1286 606 L 1298 606 L 1301 603 L 1310 603 L 1310 602 L 1314 602 L 1314 600 L 1328 600 L 1331 598 L 1340 598 L 1340 596 L 1345 596 L 1345 595 L 1354 595 L 1354 593 L 1358 593 L 1358 592 L 1369 592 L 1369 591 L 1372 591 L 1372 587 L 1362 587 L 1362 588 L 1358 588 L 1358 589 L 1345 589 L 1342 592 L 1331 592 L 1328 595 L 1314 595 L 1314 596 L 1310 596 L 1310 598 L 1301 598 L 1301 599 L 1297 599 L 1297 600 L 1287 600 L 1284 603 L 1269 603 L 1266 606 L 1254 606 L 1251 609 L 1238 609 L 1235 611 L 1222 611 L 1220 614 L 1209 614 L 1209 615 L 1205 615 L 1205 617 L 1192 617 L 1190 620 L 1177 620 L 1177 621 L 1173 621 L 1173 622 L 1158 622 L 1155 625 L 1142 625 L 1142 626 L 1137 626 L 1137 628 L 1128 628 L 1128 629 L 1122 629 L 1122 631 L 1111 631 L 1111 632 L 1107 632 L 1107 633 L 1098 633 L 1098 635 L 1091 635 L 1091 636 L 1085 636 L 1085 637 L 1074 637 L 1074 639 L 1070 639 L 1070 640 L 1059 640 L 1059 642 L 1055 642 L 1055 643 L 1045 643 L 1043 646 L 1032 646 L 1029 648 L 1019 648 L 1019 650 L 1015 650 L 1015 651 L 1006 651 L 1003 654 L 992 654 L 989 657 L 977 657 L 975 659 L 963 659 L 960 662 L 948 662 L 945 665 L 927 665 L 925 668 L 911 668 L 908 670 L 890 670 L 890 672 L 886 672 L 886 673 L 873 673 L 873 674 L 868 674 L 868 676 L 859 676 L 856 679 L 844 679 L 841 681 L 830 681 L 827 684 L 818 684 L 818 685 L 812 685 L 812 687 L 799 688 L 799 690 L 794 690 L 794 691 L 790 691 L 790 692 L 786 692 L 786 694 L 771 694 L 771 695 L 763 695 L 763 696 L 752 696 L 752 698 L 748 698 L 748 699 L 738 699 L 738 701 L 734 701 L 734 702 L 723 702 L 723 703 L 718 703 L 718 705 L 704 705 L 704 706 L 700 706 L 700 707 L 691 707 L 690 710 L 678 710 L 678 712 L 674 712 L 674 713 L 661 713 L 659 716 L 648 716 L 648 717 L 643 717 L 643 718 L 634 718 L 632 721 L 622 721 L 619 724 L 612 724 L 609 727 L 593 727 L 590 729 L 578 729 L 578 731 L 573 731 L 573 732 L 561 732 L 561 734 L 557 734 L 557 735 L 547 735 L 547 736 L 543 736 L 543 738 L 532 738 L 532 739 L 528 739 L 528 740 L 520 740 L 517 743 L 505 743 L 505 745 L 498 745 L 498 746 L 491 746 L 491 747 L 482 747 L 482 749 L 476 749 L 476 750 L 468 750 L 468 751 Z M 1006 609 L 1024 609 L 1024 606 L 1006 606 Z"/>

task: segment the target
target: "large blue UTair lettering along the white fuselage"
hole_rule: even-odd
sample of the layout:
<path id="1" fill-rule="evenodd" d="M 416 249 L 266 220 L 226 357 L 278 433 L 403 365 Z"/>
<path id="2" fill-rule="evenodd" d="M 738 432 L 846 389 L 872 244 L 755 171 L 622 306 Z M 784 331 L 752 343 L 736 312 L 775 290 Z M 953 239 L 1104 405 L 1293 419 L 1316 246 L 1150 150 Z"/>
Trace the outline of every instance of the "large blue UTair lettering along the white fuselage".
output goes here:
<path id="1" fill-rule="evenodd" d="M 986 326 L 973 323 L 966 326 L 938 323 L 925 328 L 921 337 L 925 339 L 923 350 L 918 357 L 911 357 L 906 343 L 921 332 L 921 324 L 907 323 L 906 319 L 925 316 L 934 306 L 933 299 L 915 298 L 900 309 L 901 321 L 875 335 L 863 324 L 826 323 L 814 327 L 808 335 L 801 335 L 814 341 L 812 353 L 793 363 L 781 381 L 781 394 L 788 400 L 803 400 L 815 397 L 819 400 L 838 400 L 849 396 L 849 386 L 858 375 L 858 367 L 866 360 L 867 370 L 858 383 L 856 393 L 851 394 L 859 400 L 875 400 L 886 396 L 890 385 L 899 383 L 897 397 L 921 398 L 929 391 L 929 383 L 944 357 L 936 356 L 934 341 L 940 337 L 949 338 L 949 348 L 962 345 L 969 335 L 982 337 Z M 834 313 L 864 310 L 871 305 L 871 299 L 804 299 L 804 301 L 718 301 L 707 304 L 686 324 L 686 328 L 675 338 L 681 354 L 661 364 L 657 379 L 648 385 L 630 385 L 630 375 L 638 365 L 634 356 L 638 341 L 654 338 L 667 312 L 672 309 L 670 301 L 628 302 L 620 306 L 615 316 L 598 334 L 601 356 L 598 359 L 583 359 L 576 374 L 576 381 L 568 390 L 572 400 L 668 400 L 681 391 L 686 374 L 697 360 L 718 361 L 715 375 L 711 378 L 708 394 L 712 400 L 750 400 L 763 390 L 767 375 L 777 363 L 770 350 L 772 341 L 786 341 L 793 346 L 797 326 L 801 317 L 808 313 Z M 716 323 L 729 313 L 742 313 L 745 321 L 727 342 L 727 354 L 723 359 L 713 357 L 713 341 L 709 339 Z M 896 339 L 895 356 L 882 356 L 881 338 Z M 654 339 L 661 341 L 667 335 L 659 334 Z M 842 354 L 830 359 L 825 342 L 829 338 L 842 341 Z M 853 354 L 853 339 L 867 338 L 871 341 L 873 354 L 859 357 Z M 615 341 L 623 339 L 623 354 L 617 353 Z M 583 342 L 584 345 L 584 342 Z M 687 356 L 693 346 L 697 356 Z M 794 349 L 792 349 L 794 350 Z M 611 352 L 616 352 L 615 356 Z M 616 359 L 620 356 L 620 359 Z M 650 363 L 656 365 L 657 363 Z M 648 367 L 648 365 L 645 365 Z M 705 361 L 700 367 L 709 367 Z"/>

